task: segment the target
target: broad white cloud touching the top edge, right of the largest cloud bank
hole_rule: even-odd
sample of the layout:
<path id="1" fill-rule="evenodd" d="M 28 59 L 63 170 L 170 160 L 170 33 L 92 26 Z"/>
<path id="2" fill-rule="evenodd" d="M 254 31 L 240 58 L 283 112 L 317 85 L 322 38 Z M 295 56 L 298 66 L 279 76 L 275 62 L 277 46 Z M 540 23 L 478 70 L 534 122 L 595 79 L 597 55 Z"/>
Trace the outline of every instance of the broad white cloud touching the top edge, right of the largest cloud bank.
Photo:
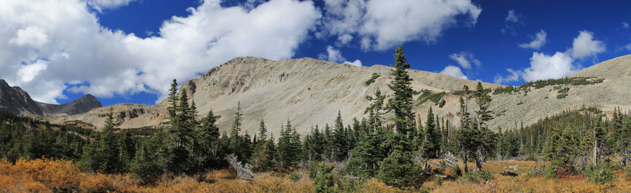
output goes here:
<path id="1" fill-rule="evenodd" d="M 364 50 L 386 50 L 415 40 L 433 43 L 457 23 L 456 17 L 474 25 L 482 12 L 470 0 L 325 0 L 325 10 L 325 33 L 359 36 Z"/>

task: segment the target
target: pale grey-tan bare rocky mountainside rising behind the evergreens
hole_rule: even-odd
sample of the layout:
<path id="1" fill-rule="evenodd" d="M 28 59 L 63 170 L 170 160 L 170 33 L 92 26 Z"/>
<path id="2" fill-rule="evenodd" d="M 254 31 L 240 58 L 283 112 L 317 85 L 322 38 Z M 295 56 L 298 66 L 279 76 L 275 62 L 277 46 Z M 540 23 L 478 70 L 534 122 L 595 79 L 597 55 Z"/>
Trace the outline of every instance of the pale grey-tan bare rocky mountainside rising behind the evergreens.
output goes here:
<path id="1" fill-rule="evenodd" d="M 195 101 L 201 117 L 211 108 L 215 115 L 221 116 L 218 124 L 224 131 L 231 128 L 237 103 L 240 102 L 243 130 L 250 134 L 257 131 L 261 119 L 274 133 L 280 129 L 280 124 L 290 120 L 304 134 L 315 124 L 320 127 L 332 124 L 338 110 L 341 110 L 345 124 L 351 124 L 354 117 L 365 117 L 363 112 L 369 105 L 365 96 L 373 94 L 378 88 L 385 94 L 391 94 L 387 86 L 391 81 L 388 76 L 390 71 L 389 66 L 351 66 L 312 58 L 276 62 L 257 57 L 238 57 L 210 69 L 200 78 L 186 81 L 182 88 L 186 89 L 189 99 Z M 380 76 L 374 79 L 374 83 L 366 85 L 375 73 Z M 463 85 L 473 88 L 477 83 L 428 71 L 409 70 L 409 74 L 414 79 L 412 87 L 416 91 L 446 92 L 442 96 L 445 106 L 439 107 L 433 101 L 427 101 L 414 108 L 421 120 L 425 120 L 428 108 L 432 107 L 435 114 L 458 124 L 456 115 L 447 116 L 456 114 L 459 109 L 459 96 L 454 91 L 461 90 Z M 513 129 L 521 121 L 524 125 L 532 124 L 561 110 L 581 108 L 583 105 L 597 106 L 606 112 L 618 106 L 631 109 L 631 55 L 591 66 L 571 77 L 603 81 L 592 85 L 527 87 L 522 92 L 493 94 L 491 110 L 495 119 L 489 122 L 489 126 Z M 490 83 L 483 85 L 491 89 L 504 87 Z M 569 88 L 567 96 L 557 99 L 559 90 L 565 87 Z M 121 122 L 121 128 L 147 127 L 167 121 L 165 101 L 156 106 L 116 104 L 111 107 Z M 47 119 L 53 122 L 81 120 L 102 127 L 104 113 L 108 109 L 95 108 L 88 113 Z"/>

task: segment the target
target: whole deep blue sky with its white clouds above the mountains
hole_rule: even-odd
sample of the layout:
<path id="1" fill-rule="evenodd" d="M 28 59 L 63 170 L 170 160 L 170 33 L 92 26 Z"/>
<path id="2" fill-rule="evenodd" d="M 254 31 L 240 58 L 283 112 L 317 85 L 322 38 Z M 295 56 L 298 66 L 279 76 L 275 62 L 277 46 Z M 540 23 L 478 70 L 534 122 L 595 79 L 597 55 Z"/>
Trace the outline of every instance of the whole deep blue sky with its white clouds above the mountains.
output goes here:
<path id="1" fill-rule="evenodd" d="M 630 1 L 3 4 L 0 78 L 49 103 L 90 93 L 104 105 L 153 104 L 170 79 L 242 55 L 370 66 L 391 64 L 402 43 L 412 69 L 520 85 L 631 54 Z"/>

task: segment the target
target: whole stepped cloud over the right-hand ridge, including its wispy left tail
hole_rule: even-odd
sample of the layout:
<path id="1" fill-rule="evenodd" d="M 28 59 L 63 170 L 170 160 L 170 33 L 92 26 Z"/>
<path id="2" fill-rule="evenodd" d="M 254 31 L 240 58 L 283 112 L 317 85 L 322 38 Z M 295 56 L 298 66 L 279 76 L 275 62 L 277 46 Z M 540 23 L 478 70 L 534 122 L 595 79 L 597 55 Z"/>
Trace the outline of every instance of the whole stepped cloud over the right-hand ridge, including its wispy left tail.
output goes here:
<path id="1" fill-rule="evenodd" d="M 595 57 L 605 51 L 602 41 L 594 40 L 594 34 L 590 31 L 580 31 L 574 38 L 572 47 L 565 52 L 555 52 L 555 55 L 545 55 L 541 52 L 533 52 L 530 58 L 530 66 L 523 71 L 507 69 L 509 76 L 496 75 L 496 83 L 506 83 L 517 80 L 519 74 L 525 81 L 545 80 L 550 78 L 563 78 L 582 69 L 576 60 L 585 57 Z"/>

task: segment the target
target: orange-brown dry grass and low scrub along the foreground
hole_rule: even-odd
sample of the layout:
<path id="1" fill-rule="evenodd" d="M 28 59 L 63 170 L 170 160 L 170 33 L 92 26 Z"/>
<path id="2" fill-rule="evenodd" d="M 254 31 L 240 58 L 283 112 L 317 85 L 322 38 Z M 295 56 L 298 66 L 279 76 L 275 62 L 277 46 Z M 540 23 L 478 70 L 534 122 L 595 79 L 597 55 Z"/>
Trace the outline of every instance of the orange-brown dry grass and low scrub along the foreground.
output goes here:
<path id="1" fill-rule="evenodd" d="M 470 163 L 473 168 L 473 163 Z M 501 176 L 498 173 L 517 166 L 520 176 Z M 431 192 L 630 192 L 631 178 L 618 176 L 609 185 L 595 185 L 582 178 L 547 179 L 527 177 L 536 162 L 487 162 L 484 170 L 494 173 L 489 183 L 468 183 L 465 180 L 446 180 L 442 185 L 429 180 L 423 187 Z M 514 171 L 513 169 L 510 169 Z M 619 171 L 618 171 L 619 173 Z M 15 165 L 0 161 L 0 192 L 313 192 L 313 180 L 305 171 L 297 182 L 282 173 L 259 173 L 252 182 L 236 178 L 230 169 L 212 171 L 201 176 L 169 176 L 156 180 L 154 185 L 142 185 L 129 175 L 81 173 L 76 164 L 65 160 L 19 160 Z M 357 192 L 416 192 L 386 187 L 376 179 L 366 180 Z"/>

